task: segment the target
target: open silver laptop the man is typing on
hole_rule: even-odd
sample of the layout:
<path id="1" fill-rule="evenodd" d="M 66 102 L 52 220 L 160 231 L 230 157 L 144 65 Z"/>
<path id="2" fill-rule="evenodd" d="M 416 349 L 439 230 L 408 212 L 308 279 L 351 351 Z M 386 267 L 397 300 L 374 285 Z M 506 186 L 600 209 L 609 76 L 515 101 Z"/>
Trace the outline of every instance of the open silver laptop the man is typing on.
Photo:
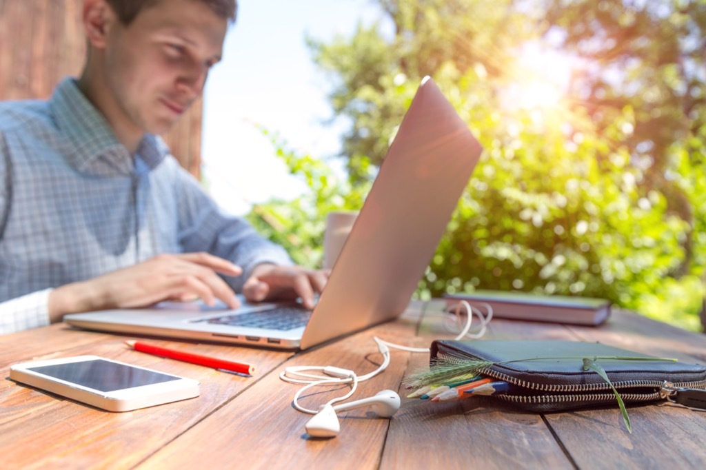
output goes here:
<path id="1" fill-rule="evenodd" d="M 89 330 L 309 349 L 392 320 L 407 308 L 481 151 L 436 83 L 424 78 L 313 311 L 282 303 L 235 310 L 160 303 L 64 321 Z"/>

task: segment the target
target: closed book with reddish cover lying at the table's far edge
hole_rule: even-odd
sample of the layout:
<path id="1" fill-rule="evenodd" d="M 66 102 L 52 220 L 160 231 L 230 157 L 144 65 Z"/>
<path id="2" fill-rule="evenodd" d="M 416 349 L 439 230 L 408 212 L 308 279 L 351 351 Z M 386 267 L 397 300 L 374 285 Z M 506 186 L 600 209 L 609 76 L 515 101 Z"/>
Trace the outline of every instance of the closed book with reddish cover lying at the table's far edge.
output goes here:
<path id="1" fill-rule="evenodd" d="M 488 303 L 493 316 L 514 320 L 600 325 L 611 314 L 611 303 L 589 297 L 543 296 L 522 292 L 474 291 L 472 294 L 444 294 L 449 306 L 465 300 L 474 306 Z"/>

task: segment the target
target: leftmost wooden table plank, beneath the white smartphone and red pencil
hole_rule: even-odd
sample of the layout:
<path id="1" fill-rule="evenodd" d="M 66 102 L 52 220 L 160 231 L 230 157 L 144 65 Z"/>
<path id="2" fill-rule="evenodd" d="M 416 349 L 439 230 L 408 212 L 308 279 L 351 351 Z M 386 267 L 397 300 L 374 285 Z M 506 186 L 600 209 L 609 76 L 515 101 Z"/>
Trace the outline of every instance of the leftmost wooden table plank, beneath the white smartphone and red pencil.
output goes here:
<path id="1" fill-rule="evenodd" d="M 55 327 L 32 330 L 35 338 L 48 338 L 53 332 L 54 344 L 61 344 L 60 353 L 52 354 L 50 346 L 38 347 L 32 342 L 31 353 L 47 351 L 43 356 L 74 356 L 95 354 L 137 366 L 155 368 L 165 373 L 184 375 L 201 382 L 201 396 L 182 402 L 153 406 L 148 409 L 110 413 L 56 397 L 32 387 L 4 380 L 0 389 L 0 454 L 4 462 L 16 468 L 126 468 L 148 457 L 156 449 L 174 440 L 185 430 L 231 401 L 237 394 L 255 383 L 255 378 L 242 377 L 202 366 L 159 358 L 128 349 L 120 335 L 97 334 L 98 341 L 85 341 L 76 332 Z M 28 335 L 30 332 L 27 332 Z M 79 332 L 80 333 L 80 332 Z M 84 333 L 88 335 L 89 333 Z M 23 335 L 8 335 L 18 341 Z M 80 339 L 79 344 L 74 342 Z M 218 356 L 256 364 L 266 375 L 277 368 L 291 352 L 241 348 L 220 344 L 186 344 L 151 340 L 156 344 L 178 347 L 197 354 Z M 71 345 L 71 347 L 68 347 Z M 2 345 L 0 344 L 0 347 Z M 26 343 L 25 343 L 26 349 Z M 18 351 L 13 351 L 17 356 Z M 8 367 L 1 370 L 8 376 Z M 41 418 L 37 418 L 41 416 Z M 42 438 L 37 439 L 37 436 Z"/>

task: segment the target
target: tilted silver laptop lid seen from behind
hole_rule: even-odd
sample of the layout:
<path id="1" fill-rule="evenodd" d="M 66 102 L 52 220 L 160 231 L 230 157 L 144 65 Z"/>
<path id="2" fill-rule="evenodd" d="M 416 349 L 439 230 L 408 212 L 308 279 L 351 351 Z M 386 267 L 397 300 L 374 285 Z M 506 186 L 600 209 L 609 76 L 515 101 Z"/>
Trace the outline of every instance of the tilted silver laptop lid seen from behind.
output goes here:
<path id="1" fill-rule="evenodd" d="M 306 325 L 301 349 L 404 311 L 481 151 L 436 83 L 425 78 Z"/>

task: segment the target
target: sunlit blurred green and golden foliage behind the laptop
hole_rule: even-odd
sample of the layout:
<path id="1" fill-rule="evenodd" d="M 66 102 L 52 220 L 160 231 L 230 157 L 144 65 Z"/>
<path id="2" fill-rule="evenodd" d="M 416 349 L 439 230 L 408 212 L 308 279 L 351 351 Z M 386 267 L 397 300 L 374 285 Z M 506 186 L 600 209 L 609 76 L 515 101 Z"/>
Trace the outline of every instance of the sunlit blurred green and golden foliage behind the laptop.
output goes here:
<path id="1" fill-rule="evenodd" d="M 377 3 L 380 22 L 352 37 L 309 38 L 335 114 L 351 123 L 340 156 L 347 176 L 275 140 L 311 192 L 255 207 L 253 223 L 298 263 L 317 265 L 325 214 L 361 207 L 429 75 L 485 152 L 419 296 L 594 296 L 700 330 L 706 2 Z M 545 57 L 555 59 L 532 64 Z M 551 80 L 562 63 L 566 83 Z"/>

